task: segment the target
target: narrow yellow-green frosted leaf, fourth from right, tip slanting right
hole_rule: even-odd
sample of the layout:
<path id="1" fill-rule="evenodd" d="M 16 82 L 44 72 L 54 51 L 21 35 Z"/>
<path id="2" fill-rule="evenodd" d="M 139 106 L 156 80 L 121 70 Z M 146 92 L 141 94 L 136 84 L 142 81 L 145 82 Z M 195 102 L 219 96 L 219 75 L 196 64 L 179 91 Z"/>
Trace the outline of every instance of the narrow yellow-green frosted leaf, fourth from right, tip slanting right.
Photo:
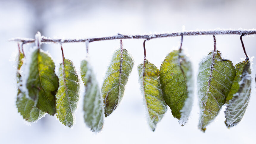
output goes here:
<path id="1" fill-rule="evenodd" d="M 149 115 L 148 123 L 152 131 L 154 131 L 156 124 L 163 118 L 167 105 L 160 87 L 158 68 L 148 60 L 145 60 L 145 68 L 143 65 L 144 62 L 138 65 L 139 83 L 141 84 L 147 115 Z"/>

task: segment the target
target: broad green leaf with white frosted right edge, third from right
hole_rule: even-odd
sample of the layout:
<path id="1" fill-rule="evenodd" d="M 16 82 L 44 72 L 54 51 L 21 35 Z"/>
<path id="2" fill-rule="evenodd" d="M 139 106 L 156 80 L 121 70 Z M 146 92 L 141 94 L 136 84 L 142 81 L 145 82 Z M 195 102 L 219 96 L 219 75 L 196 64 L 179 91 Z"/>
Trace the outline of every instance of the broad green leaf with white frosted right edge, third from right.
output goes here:
<path id="1" fill-rule="evenodd" d="M 159 76 L 163 97 L 183 126 L 188 121 L 193 103 L 191 62 L 182 52 L 172 51 L 161 64 Z"/>

